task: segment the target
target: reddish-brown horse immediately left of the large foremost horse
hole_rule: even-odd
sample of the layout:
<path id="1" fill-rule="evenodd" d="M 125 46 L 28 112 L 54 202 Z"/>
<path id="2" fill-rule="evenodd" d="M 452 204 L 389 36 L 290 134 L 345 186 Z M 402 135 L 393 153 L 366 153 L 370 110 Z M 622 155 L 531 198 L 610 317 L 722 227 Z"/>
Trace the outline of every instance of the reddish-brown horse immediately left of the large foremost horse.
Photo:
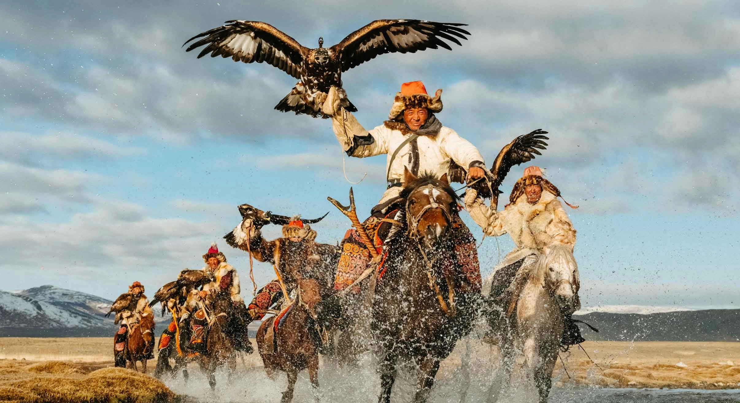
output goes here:
<path id="1" fill-rule="evenodd" d="M 277 316 L 266 319 L 257 331 L 257 347 L 265 365 L 267 376 L 275 376 L 275 370 L 288 375 L 288 389 L 280 402 L 293 399 L 293 390 L 298 373 L 308 368 L 312 392 L 316 401 L 319 387 L 319 356 L 321 339 L 317 324 L 317 304 L 321 301 L 321 290 L 316 279 L 297 279 L 297 299 L 289 312 L 283 316 L 283 324 L 275 332 Z"/>

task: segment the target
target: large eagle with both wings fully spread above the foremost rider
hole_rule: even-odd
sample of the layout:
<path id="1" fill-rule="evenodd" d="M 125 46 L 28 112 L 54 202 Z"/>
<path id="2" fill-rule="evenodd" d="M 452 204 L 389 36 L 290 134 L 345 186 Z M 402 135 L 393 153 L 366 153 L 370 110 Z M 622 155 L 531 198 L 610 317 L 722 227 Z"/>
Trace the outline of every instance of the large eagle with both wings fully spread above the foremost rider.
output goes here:
<path id="1" fill-rule="evenodd" d="M 457 38 L 468 39 L 465 35 L 470 35 L 460 28 L 466 24 L 379 19 L 354 31 L 332 47 L 323 47 L 323 38 L 319 38 L 319 47 L 309 49 L 264 22 L 232 20 L 225 24 L 188 39 L 185 44 L 202 38 L 190 44 L 186 51 L 206 45 L 198 53 L 198 58 L 210 53 L 211 57 L 230 57 L 244 63 L 266 61 L 272 64 L 300 79 L 275 109 L 306 113 L 314 118 L 328 117 L 321 112 L 325 94 L 329 93 L 332 85 L 342 87 L 342 73 L 352 67 L 384 53 L 414 53 L 439 47 L 452 50 L 445 40 L 462 46 Z M 357 111 L 349 99 L 342 99 L 341 104 L 350 112 Z"/>

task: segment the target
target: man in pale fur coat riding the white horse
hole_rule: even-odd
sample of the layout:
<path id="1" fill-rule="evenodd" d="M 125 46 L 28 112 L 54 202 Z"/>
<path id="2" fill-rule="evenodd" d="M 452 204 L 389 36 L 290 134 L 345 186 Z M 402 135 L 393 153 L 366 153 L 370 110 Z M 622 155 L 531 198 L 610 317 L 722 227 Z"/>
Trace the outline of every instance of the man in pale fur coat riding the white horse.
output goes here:
<path id="1" fill-rule="evenodd" d="M 502 211 L 485 207 L 475 190 L 466 192 L 466 207 L 483 232 L 488 236 L 508 233 L 516 244 L 494 272 L 490 296 L 499 304 L 508 305 L 512 298 L 517 298 L 521 282 L 526 281 L 540 256 L 548 253 L 548 247 L 562 244 L 573 251 L 576 230 L 557 200 L 559 194 L 534 165 L 525 168 L 524 175 L 511 190 L 510 203 Z M 561 343 L 564 345 L 585 341 L 571 315 L 563 313 L 565 330 Z"/>

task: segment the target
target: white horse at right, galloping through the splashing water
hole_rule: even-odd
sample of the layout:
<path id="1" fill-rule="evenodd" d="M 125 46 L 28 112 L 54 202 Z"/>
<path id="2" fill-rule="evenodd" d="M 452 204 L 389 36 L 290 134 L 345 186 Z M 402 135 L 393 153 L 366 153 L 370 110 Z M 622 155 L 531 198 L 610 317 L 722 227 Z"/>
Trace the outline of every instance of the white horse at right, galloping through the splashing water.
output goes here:
<path id="1" fill-rule="evenodd" d="M 548 247 L 533 266 L 519 293 L 516 316 L 509 318 L 508 331 L 500 335 L 504 376 L 491 385 L 490 402 L 496 402 L 507 386 L 511 390 L 507 395 L 539 396 L 540 403 L 547 402 L 564 330 L 562 316 L 580 309 L 578 265 L 570 248 Z"/>

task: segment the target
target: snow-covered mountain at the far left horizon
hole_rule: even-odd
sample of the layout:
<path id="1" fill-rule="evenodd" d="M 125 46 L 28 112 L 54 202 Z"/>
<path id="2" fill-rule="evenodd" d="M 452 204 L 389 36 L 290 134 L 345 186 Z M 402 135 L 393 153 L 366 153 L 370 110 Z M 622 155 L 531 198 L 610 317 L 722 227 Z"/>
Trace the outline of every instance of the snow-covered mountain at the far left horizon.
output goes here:
<path id="1" fill-rule="evenodd" d="M 112 316 L 104 317 L 110 304 L 99 296 L 52 285 L 0 291 L 0 336 L 110 336 L 115 324 Z M 169 321 L 157 316 L 159 323 Z"/>

